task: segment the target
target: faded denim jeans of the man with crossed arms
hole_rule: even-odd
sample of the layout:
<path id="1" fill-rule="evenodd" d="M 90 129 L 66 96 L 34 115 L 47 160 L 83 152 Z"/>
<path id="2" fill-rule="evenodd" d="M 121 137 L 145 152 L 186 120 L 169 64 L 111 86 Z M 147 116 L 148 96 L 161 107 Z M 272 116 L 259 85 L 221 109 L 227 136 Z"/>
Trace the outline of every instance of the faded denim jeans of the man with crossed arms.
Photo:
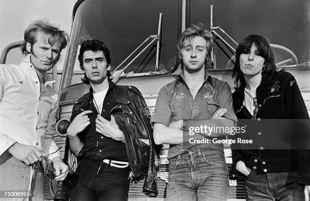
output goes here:
<path id="1" fill-rule="evenodd" d="M 169 159 L 167 201 L 226 201 L 227 190 L 227 165 L 222 151 L 191 149 Z"/>

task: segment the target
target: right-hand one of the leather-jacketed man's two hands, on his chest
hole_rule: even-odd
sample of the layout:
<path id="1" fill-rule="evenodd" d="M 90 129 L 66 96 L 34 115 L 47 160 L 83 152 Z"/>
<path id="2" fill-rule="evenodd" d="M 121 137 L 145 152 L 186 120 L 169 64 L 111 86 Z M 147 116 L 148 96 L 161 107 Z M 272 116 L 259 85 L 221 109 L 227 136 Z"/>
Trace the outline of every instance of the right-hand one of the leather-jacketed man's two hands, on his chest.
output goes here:
<path id="1" fill-rule="evenodd" d="M 96 131 L 105 137 L 125 142 L 124 134 L 120 130 L 119 125 L 115 122 L 113 114 L 111 115 L 110 121 L 98 114 L 96 118 Z"/>

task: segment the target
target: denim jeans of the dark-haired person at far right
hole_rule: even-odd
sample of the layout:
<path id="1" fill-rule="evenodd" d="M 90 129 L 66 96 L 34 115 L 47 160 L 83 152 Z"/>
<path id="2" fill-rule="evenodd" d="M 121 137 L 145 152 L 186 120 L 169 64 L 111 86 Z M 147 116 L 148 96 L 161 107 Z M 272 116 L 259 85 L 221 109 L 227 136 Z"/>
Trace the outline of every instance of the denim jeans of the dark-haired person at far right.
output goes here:
<path id="1" fill-rule="evenodd" d="M 247 200 L 304 200 L 304 185 L 297 184 L 297 172 L 274 172 L 246 177 Z"/>

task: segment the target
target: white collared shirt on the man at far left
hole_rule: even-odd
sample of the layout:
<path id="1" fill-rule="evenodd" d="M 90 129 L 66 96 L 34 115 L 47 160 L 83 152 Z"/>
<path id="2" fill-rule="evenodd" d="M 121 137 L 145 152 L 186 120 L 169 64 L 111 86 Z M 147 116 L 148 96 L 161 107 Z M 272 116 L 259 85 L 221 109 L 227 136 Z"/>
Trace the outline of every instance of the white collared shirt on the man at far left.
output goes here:
<path id="1" fill-rule="evenodd" d="M 44 76 L 45 88 L 40 93 L 40 82 L 30 56 L 19 65 L 0 65 L 0 155 L 15 142 L 33 145 L 43 156 L 58 149 L 53 140 L 58 94 L 50 86 L 55 81 Z M 60 156 L 59 151 L 48 157 Z"/>

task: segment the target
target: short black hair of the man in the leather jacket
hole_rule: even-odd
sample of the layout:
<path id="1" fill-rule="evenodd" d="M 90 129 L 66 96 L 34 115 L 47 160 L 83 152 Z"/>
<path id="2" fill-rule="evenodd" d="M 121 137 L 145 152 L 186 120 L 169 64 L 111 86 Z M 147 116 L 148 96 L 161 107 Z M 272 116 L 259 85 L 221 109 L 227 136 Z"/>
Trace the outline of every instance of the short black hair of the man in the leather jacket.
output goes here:
<path id="1" fill-rule="evenodd" d="M 78 56 L 81 70 L 84 71 L 83 55 L 84 55 L 84 52 L 88 50 L 91 50 L 93 52 L 102 51 L 105 56 L 107 65 L 111 65 L 111 57 L 110 57 L 110 51 L 108 47 L 102 41 L 93 39 L 91 41 L 90 40 L 84 41 L 81 45 L 80 53 Z M 108 77 L 111 76 L 110 71 L 107 71 L 107 76 Z M 82 77 L 81 79 L 82 79 L 82 82 L 85 84 L 90 83 L 88 77 L 86 76 L 86 73 L 84 73 L 84 77 Z"/>

